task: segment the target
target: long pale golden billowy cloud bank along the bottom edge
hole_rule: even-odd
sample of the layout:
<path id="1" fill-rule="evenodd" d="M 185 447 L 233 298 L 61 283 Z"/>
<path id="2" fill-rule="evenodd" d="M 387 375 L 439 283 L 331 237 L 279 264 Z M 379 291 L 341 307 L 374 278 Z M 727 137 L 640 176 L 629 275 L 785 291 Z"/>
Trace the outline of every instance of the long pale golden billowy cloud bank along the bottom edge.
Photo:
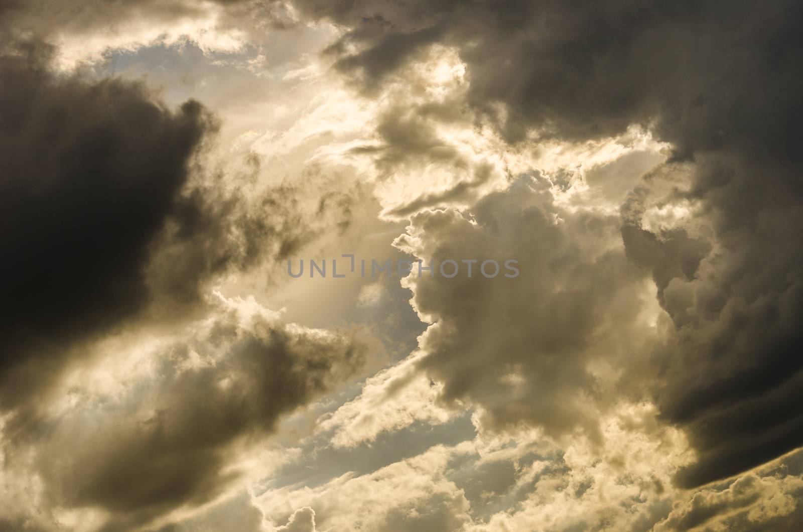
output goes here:
<path id="1" fill-rule="evenodd" d="M 478 424 L 471 440 L 372 473 L 269 485 L 259 505 L 277 522 L 310 505 L 319 530 L 630 530 L 643 518 L 649 526 L 633 530 L 646 532 L 671 511 L 671 474 L 687 459 L 683 433 L 656 415 L 646 403 L 620 407 L 600 419 L 599 440 L 565 448 L 540 430 Z"/>

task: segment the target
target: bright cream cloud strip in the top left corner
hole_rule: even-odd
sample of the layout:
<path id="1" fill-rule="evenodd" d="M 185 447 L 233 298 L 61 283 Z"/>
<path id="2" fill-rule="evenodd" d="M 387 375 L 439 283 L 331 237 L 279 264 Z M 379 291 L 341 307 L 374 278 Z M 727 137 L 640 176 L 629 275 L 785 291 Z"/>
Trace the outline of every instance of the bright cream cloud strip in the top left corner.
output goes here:
<path id="1" fill-rule="evenodd" d="M 297 25 L 283 2 L 253 0 L 31 0 L 4 2 L 0 27 L 9 35 L 57 44 L 55 63 L 73 70 L 112 51 L 194 43 L 205 52 L 233 53 L 264 35 Z"/>

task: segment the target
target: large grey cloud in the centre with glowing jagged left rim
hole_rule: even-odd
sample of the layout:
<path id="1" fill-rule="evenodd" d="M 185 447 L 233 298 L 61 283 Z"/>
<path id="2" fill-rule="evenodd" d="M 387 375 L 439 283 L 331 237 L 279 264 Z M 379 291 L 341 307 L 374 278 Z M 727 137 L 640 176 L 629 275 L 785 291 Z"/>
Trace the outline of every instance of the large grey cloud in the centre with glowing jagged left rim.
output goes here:
<path id="1" fill-rule="evenodd" d="M 414 279 L 415 308 L 436 322 L 421 366 L 445 384 L 443 399 L 483 407 L 483 425 L 594 437 L 593 403 L 608 403 L 589 364 L 625 363 L 650 337 L 635 323 L 645 276 L 626 259 L 615 216 L 563 211 L 547 186 L 520 178 L 480 200 L 471 220 L 451 210 L 411 218 L 399 245 L 424 260 L 516 259 L 520 269 L 486 279 L 475 264 L 468 278 L 461 264 L 452 279 Z"/>

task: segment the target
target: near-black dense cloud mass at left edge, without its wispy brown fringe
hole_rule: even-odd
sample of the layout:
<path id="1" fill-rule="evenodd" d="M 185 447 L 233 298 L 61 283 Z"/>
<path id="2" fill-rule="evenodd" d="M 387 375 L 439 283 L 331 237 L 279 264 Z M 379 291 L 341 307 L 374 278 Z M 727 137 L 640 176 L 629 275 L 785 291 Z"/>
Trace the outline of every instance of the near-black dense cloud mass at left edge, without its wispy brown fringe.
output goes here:
<path id="1" fill-rule="evenodd" d="M 23 44 L 0 65 L 6 406 L 40 377 L 28 360 L 59 357 L 149 303 L 145 268 L 166 221 L 186 238 L 202 223 L 181 192 L 215 127 L 198 102 L 171 112 L 138 84 L 53 76 L 47 51 Z"/>

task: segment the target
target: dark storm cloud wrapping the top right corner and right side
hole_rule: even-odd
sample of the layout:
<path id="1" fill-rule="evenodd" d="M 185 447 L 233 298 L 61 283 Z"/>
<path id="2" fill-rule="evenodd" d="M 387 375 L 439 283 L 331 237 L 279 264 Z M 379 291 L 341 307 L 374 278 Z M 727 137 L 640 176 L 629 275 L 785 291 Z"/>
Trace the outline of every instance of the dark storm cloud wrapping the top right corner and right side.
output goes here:
<path id="1" fill-rule="evenodd" d="M 436 33 L 467 65 L 469 103 L 510 141 L 580 141 L 635 124 L 670 142 L 691 166 L 675 199 L 695 203 L 711 233 L 649 231 L 638 219 L 622 232 L 675 324 L 656 355 L 670 370 L 653 386 L 700 454 L 679 481 L 739 473 L 803 444 L 789 407 L 803 399 L 800 2 L 296 4 L 350 28 L 339 64 L 366 87 Z"/>

